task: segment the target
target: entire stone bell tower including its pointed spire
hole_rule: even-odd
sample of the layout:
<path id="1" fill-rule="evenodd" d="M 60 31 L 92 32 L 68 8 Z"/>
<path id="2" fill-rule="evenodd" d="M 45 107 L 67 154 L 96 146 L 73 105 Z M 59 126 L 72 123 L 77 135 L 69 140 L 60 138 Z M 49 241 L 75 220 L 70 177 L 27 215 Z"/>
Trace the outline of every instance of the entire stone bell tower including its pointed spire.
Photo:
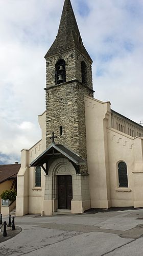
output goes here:
<path id="1" fill-rule="evenodd" d="M 93 97 L 92 60 L 83 45 L 70 0 L 64 2 L 58 34 L 44 58 L 46 147 L 54 131 L 56 143 L 86 160 L 84 95 Z"/>

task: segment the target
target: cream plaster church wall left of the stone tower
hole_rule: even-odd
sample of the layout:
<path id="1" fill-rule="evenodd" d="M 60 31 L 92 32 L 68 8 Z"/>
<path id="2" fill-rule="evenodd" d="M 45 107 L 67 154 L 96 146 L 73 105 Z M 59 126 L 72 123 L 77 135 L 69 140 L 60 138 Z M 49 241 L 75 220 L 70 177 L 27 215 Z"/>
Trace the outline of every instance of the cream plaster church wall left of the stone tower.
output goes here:
<path id="1" fill-rule="evenodd" d="M 44 198 L 44 171 L 41 172 L 41 187 L 35 187 L 35 168 L 30 167 L 33 159 L 45 150 L 45 112 L 38 116 L 42 139 L 29 150 L 21 151 L 21 168 L 17 175 L 16 214 L 39 213 Z"/>

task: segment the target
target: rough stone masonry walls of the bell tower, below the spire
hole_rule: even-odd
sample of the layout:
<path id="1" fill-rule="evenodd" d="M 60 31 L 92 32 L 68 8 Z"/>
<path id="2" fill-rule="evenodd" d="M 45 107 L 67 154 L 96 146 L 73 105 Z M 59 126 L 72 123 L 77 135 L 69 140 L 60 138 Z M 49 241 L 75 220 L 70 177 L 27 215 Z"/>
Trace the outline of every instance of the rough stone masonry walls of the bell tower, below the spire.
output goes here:
<path id="1" fill-rule="evenodd" d="M 55 64 L 59 59 L 65 60 L 66 82 L 55 86 Z M 76 50 L 46 60 L 46 147 L 51 144 L 49 137 L 55 132 L 56 143 L 65 145 L 86 160 L 84 95 L 92 97 L 92 91 L 81 83 L 82 60 L 87 65 L 87 79 L 92 89 L 91 63 Z M 60 126 L 63 127 L 61 136 Z"/>

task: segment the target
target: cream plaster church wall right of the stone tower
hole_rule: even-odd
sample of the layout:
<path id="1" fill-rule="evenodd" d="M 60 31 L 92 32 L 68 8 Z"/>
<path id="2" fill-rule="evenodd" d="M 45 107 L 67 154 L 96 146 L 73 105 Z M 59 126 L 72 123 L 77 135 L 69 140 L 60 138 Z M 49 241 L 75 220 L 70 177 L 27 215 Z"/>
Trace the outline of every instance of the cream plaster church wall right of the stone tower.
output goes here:
<path id="1" fill-rule="evenodd" d="M 143 138 L 111 127 L 110 102 L 85 97 L 85 114 L 91 208 L 143 207 Z M 120 161 L 127 164 L 126 188 L 118 185 Z"/>

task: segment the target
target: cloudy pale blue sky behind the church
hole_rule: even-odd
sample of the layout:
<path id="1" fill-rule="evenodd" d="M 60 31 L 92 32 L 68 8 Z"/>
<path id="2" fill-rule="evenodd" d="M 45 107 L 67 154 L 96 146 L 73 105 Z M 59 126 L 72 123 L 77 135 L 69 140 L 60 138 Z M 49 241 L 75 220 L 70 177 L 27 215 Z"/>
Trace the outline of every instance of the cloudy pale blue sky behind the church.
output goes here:
<path id="1" fill-rule="evenodd" d="M 41 138 L 45 53 L 57 35 L 64 0 L 0 0 L 0 164 Z M 143 121 L 143 1 L 71 0 L 93 60 L 94 98 Z"/>

